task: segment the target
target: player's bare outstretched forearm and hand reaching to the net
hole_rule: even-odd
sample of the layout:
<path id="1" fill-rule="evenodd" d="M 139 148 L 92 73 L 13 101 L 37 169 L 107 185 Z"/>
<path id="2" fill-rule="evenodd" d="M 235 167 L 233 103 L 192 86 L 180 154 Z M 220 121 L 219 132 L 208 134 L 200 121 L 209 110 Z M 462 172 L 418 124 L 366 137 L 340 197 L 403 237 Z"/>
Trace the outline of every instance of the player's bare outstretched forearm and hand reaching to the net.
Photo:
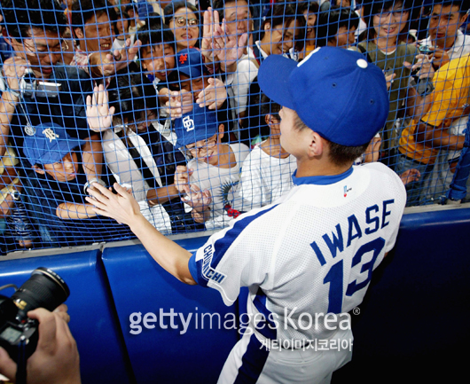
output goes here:
<path id="1" fill-rule="evenodd" d="M 186 284 L 196 284 L 188 266 L 191 253 L 157 231 L 142 216 L 140 207 L 131 194 L 119 184 L 114 184 L 117 193 L 97 183 L 92 186 L 95 189 L 88 190 L 92 197 L 86 199 L 95 207 L 94 210 L 98 215 L 111 217 L 118 223 L 129 225 L 130 231 L 134 232 L 153 260 L 164 270 Z"/>

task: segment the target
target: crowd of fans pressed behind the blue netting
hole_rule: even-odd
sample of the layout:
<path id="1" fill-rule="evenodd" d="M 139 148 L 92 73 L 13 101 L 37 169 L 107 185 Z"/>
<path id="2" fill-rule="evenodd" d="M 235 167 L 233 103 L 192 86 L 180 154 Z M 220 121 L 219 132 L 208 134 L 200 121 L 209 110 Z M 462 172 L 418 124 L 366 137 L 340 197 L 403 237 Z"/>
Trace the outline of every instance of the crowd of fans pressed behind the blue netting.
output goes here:
<path id="1" fill-rule="evenodd" d="M 93 183 L 128 188 L 165 234 L 222 228 L 289 192 L 281 106 L 257 73 L 322 46 L 387 79 L 388 121 L 356 166 L 394 169 L 408 206 L 443 202 L 470 112 L 469 3 L 2 0 L 4 250 L 129 239 L 85 200 Z"/>

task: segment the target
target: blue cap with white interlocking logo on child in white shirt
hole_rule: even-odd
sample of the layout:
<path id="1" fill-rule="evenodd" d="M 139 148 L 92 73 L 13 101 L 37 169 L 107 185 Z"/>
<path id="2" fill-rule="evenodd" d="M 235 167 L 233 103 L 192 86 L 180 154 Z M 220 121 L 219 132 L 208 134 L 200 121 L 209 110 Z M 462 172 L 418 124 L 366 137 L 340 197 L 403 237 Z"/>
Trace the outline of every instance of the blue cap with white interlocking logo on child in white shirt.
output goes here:
<path id="1" fill-rule="evenodd" d="M 176 146 L 191 145 L 213 137 L 219 131 L 217 114 L 207 106 L 192 106 L 192 111 L 175 120 Z"/>

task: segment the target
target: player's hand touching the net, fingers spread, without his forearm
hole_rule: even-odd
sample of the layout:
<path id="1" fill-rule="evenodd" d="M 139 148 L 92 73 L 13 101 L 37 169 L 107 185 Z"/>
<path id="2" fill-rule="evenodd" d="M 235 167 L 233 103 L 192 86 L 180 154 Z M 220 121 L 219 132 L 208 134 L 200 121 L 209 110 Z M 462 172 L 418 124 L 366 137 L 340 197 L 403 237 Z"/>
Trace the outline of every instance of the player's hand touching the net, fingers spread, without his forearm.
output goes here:
<path id="1" fill-rule="evenodd" d="M 131 226 L 137 216 L 142 216 L 137 200 L 120 184 L 114 183 L 114 191 L 104 186 L 93 183 L 93 188 L 88 189 L 90 197 L 85 199 L 93 205 L 93 211 L 97 215 L 111 217 L 121 224 Z"/>

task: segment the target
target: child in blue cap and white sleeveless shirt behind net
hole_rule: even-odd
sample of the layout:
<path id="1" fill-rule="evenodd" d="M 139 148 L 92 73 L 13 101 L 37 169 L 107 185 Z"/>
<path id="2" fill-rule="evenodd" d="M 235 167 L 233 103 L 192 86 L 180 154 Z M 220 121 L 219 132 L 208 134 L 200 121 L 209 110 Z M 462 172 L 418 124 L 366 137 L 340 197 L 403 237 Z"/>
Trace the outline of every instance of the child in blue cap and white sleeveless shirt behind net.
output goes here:
<path id="1" fill-rule="evenodd" d="M 192 160 L 176 168 L 175 184 L 182 200 L 192 208 L 196 223 L 214 229 L 230 217 L 224 214 L 235 200 L 232 187 L 249 149 L 247 145 L 222 142 L 224 127 L 208 107 L 194 105 L 192 111 L 176 119 L 176 146 L 183 147 Z"/>

